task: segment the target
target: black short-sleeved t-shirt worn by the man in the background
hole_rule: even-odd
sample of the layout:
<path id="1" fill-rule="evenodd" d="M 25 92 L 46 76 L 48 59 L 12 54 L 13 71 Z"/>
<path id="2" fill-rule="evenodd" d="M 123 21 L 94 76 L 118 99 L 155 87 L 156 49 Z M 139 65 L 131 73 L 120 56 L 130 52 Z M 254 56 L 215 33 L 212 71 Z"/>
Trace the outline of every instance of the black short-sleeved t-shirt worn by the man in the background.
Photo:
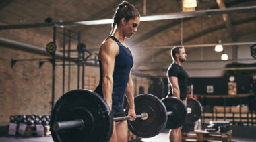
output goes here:
<path id="1" fill-rule="evenodd" d="M 180 99 L 185 100 L 187 97 L 187 79 L 188 79 L 187 72 L 185 72 L 185 70 L 178 64 L 173 63 L 173 64 L 170 64 L 167 71 L 168 80 L 170 76 L 175 76 L 178 78 L 179 89 L 180 89 Z M 168 96 L 173 96 L 172 85 L 170 84 L 170 80 L 168 85 L 170 88 Z"/>

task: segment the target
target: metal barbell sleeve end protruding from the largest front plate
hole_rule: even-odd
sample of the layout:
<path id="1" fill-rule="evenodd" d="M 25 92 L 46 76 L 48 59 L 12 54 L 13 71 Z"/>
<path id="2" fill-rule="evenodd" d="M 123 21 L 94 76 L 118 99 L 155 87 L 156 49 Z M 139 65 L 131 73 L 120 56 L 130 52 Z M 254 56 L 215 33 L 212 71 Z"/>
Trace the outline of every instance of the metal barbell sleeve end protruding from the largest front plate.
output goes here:
<path id="1" fill-rule="evenodd" d="M 54 131 L 63 131 L 67 129 L 82 129 L 84 127 L 84 121 L 82 119 L 76 119 L 73 121 L 62 121 L 53 123 Z"/>

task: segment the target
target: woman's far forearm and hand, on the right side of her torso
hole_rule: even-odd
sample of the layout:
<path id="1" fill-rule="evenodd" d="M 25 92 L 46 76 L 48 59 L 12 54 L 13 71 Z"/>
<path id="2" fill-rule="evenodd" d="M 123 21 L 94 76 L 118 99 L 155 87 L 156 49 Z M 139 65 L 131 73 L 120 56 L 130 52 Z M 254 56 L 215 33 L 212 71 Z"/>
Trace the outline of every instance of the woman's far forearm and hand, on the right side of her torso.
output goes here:
<path id="1" fill-rule="evenodd" d="M 129 75 L 129 81 L 128 81 L 127 86 L 126 86 L 125 95 L 126 95 L 127 100 L 129 102 L 128 116 L 133 117 L 130 120 L 134 121 L 135 118 L 136 118 L 136 113 L 135 113 L 135 106 L 134 106 L 133 80 L 131 78 L 131 72 L 130 72 L 130 75 Z"/>

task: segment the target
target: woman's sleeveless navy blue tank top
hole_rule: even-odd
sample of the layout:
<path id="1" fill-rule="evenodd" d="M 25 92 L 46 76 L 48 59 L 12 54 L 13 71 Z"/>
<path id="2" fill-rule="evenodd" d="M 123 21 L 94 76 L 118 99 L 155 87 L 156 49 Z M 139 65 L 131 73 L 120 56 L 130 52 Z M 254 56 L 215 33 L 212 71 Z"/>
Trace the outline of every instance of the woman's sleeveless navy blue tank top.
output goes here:
<path id="1" fill-rule="evenodd" d="M 110 36 L 117 42 L 119 46 L 119 54 L 115 57 L 115 66 L 113 72 L 113 92 L 112 92 L 112 108 L 120 109 L 123 104 L 123 96 L 125 95 L 125 89 L 129 81 L 130 70 L 133 67 L 133 56 L 129 48 L 126 48 L 115 38 Z M 100 96 L 102 93 L 102 66 L 100 61 L 100 82 L 95 90 Z"/>

